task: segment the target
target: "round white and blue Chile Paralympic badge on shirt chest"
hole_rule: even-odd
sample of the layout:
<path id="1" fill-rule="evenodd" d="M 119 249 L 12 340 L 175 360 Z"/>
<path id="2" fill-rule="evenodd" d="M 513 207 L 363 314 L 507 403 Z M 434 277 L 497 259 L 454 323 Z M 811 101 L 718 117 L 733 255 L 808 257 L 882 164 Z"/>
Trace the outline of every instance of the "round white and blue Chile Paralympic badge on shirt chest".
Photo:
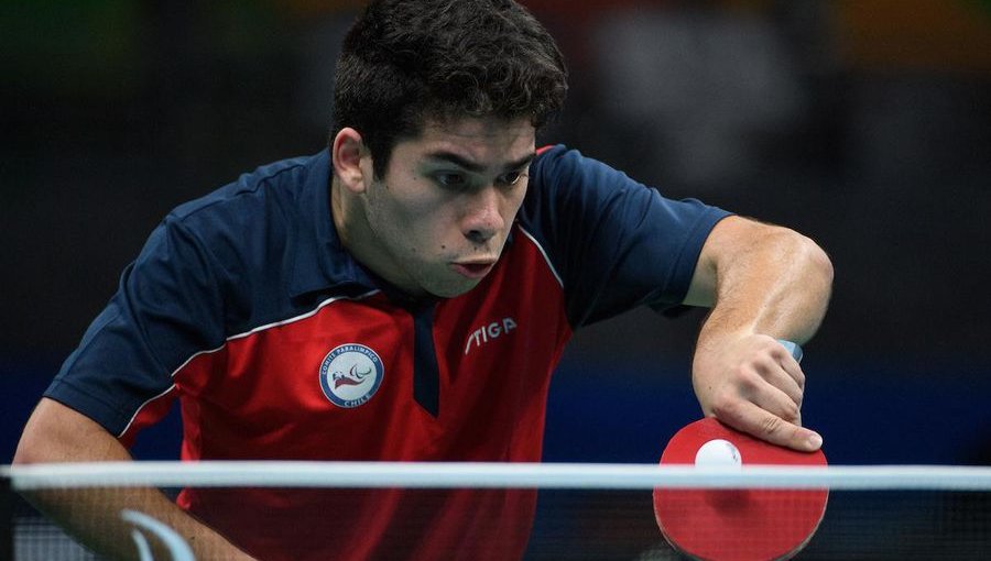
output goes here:
<path id="1" fill-rule="evenodd" d="M 324 358 L 320 387 L 334 405 L 358 407 L 375 395 L 384 374 L 382 359 L 374 351 L 363 344 L 342 344 Z"/>

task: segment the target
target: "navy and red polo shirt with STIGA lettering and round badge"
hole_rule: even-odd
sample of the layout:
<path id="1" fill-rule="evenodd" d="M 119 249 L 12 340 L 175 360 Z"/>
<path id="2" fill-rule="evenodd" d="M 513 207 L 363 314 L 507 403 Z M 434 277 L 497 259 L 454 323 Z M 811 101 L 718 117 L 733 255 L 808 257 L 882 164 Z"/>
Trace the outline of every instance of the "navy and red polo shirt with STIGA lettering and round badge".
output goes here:
<path id="1" fill-rule="evenodd" d="M 124 444 L 177 398 L 184 460 L 536 462 L 571 332 L 677 306 L 727 216 L 553 146 L 492 272 L 417 300 L 341 245 L 329 185 L 324 151 L 176 208 L 45 395 Z M 186 490 L 179 504 L 261 559 L 478 561 L 522 556 L 535 496 Z"/>

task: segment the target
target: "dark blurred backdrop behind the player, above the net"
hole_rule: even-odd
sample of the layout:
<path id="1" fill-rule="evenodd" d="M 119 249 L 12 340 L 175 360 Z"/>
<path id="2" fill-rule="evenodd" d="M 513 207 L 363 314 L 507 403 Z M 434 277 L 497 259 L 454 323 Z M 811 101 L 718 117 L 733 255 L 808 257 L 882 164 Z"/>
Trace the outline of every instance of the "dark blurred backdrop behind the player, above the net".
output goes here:
<path id="1" fill-rule="evenodd" d="M 0 3 L 0 463 L 170 209 L 324 147 L 361 3 Z M 991 0 L 523 3 L 573 77 L 543 142 L 830 253 L 804 420 L 834 463 L 991 463 Z M 701 319 L 579 332 L 545 458 L 656 461 Z"/>

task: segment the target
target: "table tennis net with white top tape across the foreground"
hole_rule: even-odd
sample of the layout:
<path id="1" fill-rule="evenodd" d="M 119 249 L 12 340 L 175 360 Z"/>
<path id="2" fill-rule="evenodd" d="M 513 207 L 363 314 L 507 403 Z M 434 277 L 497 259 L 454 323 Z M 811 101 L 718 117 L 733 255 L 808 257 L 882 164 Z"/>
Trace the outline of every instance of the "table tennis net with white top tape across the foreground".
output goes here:
<path id="1" fill-rule="evenodd" d="M 139 462 L 0 474 L 0 559 L 15 561 L 104 559 L 32 504 L 55 497 L 67 513 L 55 516 L 83 520 L 87 539 L 122 537 L 134 559 L 189 559 L 164 546 L 162 520 L 146 516 L 159 510 L 135 498 L 146 487 L 266 560 L 693 559 L 662 535 L 661 504 L 665 520 L 711 510 L 691 519 L 691 539 L 718 546 L 703 558 L 760 559 L 748 556 L 792 531 L 802 497 L 825 490 L 816 531 L 784 557 L 991 559 L 991 468 Z M 718 513 L 755 496 L 773 522 L 734 522 L 753 526 L 719 543 L 728 522 Z"/>

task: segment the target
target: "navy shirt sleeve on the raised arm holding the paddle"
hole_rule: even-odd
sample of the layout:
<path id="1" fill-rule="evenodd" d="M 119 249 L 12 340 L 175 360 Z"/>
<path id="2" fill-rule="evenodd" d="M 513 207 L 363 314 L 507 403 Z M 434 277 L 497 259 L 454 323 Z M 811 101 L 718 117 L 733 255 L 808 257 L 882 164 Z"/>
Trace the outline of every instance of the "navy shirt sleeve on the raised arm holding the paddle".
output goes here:
<path id="1" fill-rule="evenodd" d="M 703 244 L 727 216 L 558 145 L 534 161 L 521 218 L 546 244 L 578 328 L 642 305 L 680 305 Z"/>

